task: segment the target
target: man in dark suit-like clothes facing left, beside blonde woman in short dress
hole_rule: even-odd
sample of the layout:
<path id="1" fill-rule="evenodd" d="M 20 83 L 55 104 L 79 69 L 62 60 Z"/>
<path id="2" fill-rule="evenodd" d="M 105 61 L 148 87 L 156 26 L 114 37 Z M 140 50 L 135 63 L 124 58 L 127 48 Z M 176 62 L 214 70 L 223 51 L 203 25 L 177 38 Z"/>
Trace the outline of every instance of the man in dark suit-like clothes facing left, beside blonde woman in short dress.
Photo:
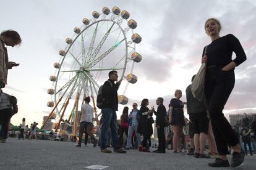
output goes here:
<path id="1" fill-rule="evenodd" d="M 163 105 L 163 98 L 158 97 L 156 99 L 156 105 L 158 105 L 157 111 L 153 108 L 153 112 L 156 115 L 156 128 L 158 136 L 158 149 L 153 151 L 155 153 L 165 153 L 165 136 L 164 136 L 164 116 L 166 116 L 166 108 Z"/>

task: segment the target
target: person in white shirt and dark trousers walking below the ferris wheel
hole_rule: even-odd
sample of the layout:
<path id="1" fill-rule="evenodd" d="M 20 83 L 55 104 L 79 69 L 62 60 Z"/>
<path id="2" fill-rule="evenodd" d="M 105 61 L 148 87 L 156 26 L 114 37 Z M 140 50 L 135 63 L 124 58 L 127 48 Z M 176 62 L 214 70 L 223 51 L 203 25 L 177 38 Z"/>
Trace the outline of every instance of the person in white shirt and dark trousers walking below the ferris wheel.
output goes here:
<path id="1" fill-rule="evenodd" d="M 93 147 L 96 147 L 98 140 L 95 139 L 92 131 L 93 127 L 93 107 L 89 105 L 90 97 L 85 97 L 85 103 L 81 106 L 81 121 L 79 126 L 79 143 L 76 147 L 81 147 L 83 132 L 93 139 Z"/>

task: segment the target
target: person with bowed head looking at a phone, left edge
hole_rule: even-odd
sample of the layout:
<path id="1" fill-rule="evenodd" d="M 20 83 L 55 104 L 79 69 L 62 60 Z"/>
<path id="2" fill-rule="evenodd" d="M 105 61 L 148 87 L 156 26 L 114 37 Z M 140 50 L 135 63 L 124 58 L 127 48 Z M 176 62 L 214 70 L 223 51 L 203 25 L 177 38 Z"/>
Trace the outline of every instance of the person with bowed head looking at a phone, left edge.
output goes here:
<path id="1" fill-rule="evenodd" d="M 20 64 L 9 62 L 7 48 L 5 46 L 18 46 L 22 42 L 20 34 L 14 30 L 2 31 L 0 34 L 0 87 L 4 88 L 7 84 L 8 69 L 17 67 Z"/>

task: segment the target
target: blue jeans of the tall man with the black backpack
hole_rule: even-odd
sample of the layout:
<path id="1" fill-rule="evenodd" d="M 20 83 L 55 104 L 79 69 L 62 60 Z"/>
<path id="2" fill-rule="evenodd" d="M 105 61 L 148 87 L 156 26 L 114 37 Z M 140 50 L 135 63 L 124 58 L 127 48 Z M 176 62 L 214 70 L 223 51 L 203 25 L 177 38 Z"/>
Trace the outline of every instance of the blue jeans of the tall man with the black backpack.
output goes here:
<path id="1" fill-rule="evenodd" d="M 108 132 L 109 127 L 111 129 L 111 139 L 114 150 L 120 148 L 120 143 L 118 139 L 118 129 L 117 129 L 117 121 L 116 121 L 116 111 L 111 108 L 103 108 L 102 112 L 102 126 L 101 126 L 101 150 L 108 147 Z"/>

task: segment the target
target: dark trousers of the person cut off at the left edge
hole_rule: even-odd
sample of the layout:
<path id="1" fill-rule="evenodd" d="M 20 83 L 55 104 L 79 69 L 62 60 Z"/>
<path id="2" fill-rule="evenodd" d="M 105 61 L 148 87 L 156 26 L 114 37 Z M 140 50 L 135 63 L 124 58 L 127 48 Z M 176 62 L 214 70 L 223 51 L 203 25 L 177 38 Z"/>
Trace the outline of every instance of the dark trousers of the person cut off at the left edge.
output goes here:
<path id="1" fill-rule="evenodd" d="M 4 108 L 0 110 L 0 124 L 2 126 L 0 131 L 0 139 L 7 139 L 8 124 L 11 119 L 12 109 Z"/>

